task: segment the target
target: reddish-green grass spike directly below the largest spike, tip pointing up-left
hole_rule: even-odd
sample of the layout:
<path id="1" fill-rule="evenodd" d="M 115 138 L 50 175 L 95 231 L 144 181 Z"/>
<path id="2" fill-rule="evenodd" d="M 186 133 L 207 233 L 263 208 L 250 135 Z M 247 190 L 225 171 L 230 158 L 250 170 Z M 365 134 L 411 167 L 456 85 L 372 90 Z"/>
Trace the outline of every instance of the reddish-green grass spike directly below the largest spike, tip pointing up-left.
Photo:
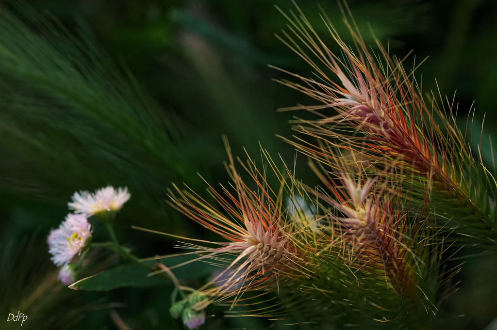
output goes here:
<path id="1" fill-rule="evenodd" d="M 342 166 L 337 180 L 318 173 L 331 194 L 323 190 L 316 194 L 321 202 L 336 210 L 329 211 L 327 219 L 338 235 L 334 239 L 339 242 L 337 256 L 350 269 L 362 274 L 359 277 L 376 278 L 378 282 L 373 284 L 376 290 L 381 290 L 383 281 L 383 293 L 370 295 L 372 302 L 387 297 L 387 291 L 394 293 L 398 300 L 397 306 L 388 305 L 395 311 L 391 316 L 409 313 L 416 327 L 419 326 L 416 329 L 423 329 L 422 320 L 429 320 L 428 313 L 431 316 L 436 313 L 433 292 L 436 280 L 430 282 L 432 271 L 438 266 L 436 261 L 430 261 L 430 256 L 435 256 L 436 251 L 429 251 L 422 243 L 428 239 L 428 232 L 409 215 L 409 199 L 387 190 L 388 182 L 378 177 L 365 179 L 360 174 L 351 175 L 344 172 L 346 168 Z M 316 167 L 313 169 L 317 171 Z M 330 252 L 336 254 L 336 248 L 331 245 Z"/>

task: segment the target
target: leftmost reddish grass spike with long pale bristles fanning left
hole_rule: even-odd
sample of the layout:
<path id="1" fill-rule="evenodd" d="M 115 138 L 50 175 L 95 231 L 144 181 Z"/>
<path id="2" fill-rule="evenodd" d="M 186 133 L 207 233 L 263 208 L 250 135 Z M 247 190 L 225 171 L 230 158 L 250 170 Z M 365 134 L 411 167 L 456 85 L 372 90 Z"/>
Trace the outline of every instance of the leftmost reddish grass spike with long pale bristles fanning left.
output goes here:
<path id="1" fill-rule="evenodd" d="M 292 243 L 293 233 L 290 226 L 285 223 L 287 216 L 282 208 L 281 194 L 275 195 L 268 189 L 264 176 L 251 162 L 248 162 L 244 168 L 255 181 L 257 191 L 248 188 L 235 169 L 228 145 L 227 149 L 229 157 L 227 170 L 236 194 L 223 187 L 224 195 L 221 195 L 209 186 L 209 192 L 226 214 L 219 212 L 199 195 L 181 191 L 176 186 L 174 186 L 176 192 L 169 192 L 171 199 L 169 204 L 227 240 L 227 242 L 193 240 L 220 245 L 221 247 L 218 248 L 194 244 L 187 244 L 186 247 L 196 250 L 190 254 L 201 255 L 195 260 L 210 259 L 210 262 L 224 265 L 224 270 L 217 272 L 214 278 L 199 291 L 206 294 L 211 301 L 235 295 L 233 302 L 235 304 L 240 293 L 277 288 L 282 279 L 280 277 L 290 275 L 301 258 Z M 183 239 L 188 240 L 188 238 Z M 227 256 L 232 257 L 230 259 Z M 170 267 L 172 268 L 174 267 Z"/>

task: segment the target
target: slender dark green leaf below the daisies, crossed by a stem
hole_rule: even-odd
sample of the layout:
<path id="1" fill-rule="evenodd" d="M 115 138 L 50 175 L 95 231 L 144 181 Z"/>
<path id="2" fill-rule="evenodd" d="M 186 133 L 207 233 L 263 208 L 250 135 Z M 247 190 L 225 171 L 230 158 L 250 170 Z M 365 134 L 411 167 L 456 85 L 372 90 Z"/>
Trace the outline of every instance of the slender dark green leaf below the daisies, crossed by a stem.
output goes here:
<path id="1" fill-rule="evenodd" d="M 194 258 L 196 258 L 196 256 L 176 256 L 166 258 L 162 261 L 162 263 L 167 267 L 172 267 Z M 155 261 L 144 262 L 144 264 L 149 266 L 153 266 L 155 263 Z M 172 269 L 171 271 L 178 279 L 186 280 L 207 276 L 216 268 L 217 267 L 215 265 L 196 261 Z M 152 270 L 149 270 L 140 264 L 126 264 L 83 278 L 69 286 L 69 288 L 74 290 L 109 291 L 121 287 L 144 288 L 160 285 L 172 285 L 170 280 L 166 280 L 162 276 L 147 276 L 151 272 Z"/>

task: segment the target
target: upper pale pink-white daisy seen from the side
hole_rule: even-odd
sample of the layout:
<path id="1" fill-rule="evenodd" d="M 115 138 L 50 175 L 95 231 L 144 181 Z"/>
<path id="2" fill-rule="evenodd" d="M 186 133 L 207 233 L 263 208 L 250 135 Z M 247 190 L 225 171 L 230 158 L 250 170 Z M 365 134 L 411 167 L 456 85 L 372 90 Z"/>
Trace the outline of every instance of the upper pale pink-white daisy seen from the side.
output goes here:
<path id="1" fill-rule="evenodd" d="M 114 187 L 107 186 L 97 190 L 95 193 L 80 191 L 74 193 L 72 202 L 69 202 L 69 209 L 75 213 L 86 213 L 94 215 L 100 212 L 118 211 L 123 204 L 131 197 L 128 187 L 116 191 Z"/>

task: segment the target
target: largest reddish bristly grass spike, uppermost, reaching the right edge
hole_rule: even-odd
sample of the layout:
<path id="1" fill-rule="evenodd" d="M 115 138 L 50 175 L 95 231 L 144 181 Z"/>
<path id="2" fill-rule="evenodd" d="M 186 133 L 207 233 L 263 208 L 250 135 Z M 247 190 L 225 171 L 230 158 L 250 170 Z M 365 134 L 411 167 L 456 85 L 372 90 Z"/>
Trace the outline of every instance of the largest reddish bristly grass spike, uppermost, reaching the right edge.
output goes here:
<path id="1" fill-rule="evenodd" d="M 284 109 L 305 109 L 319 116 L 313 121 L 295 121 L 296 131 L 319 142 L 313 145 L 304 140 L 286 140 L 331 166 L 330 153 L 335 147 L 358 153 L 375 164 L 368 165 L 368 171 L 389 175 L 394 181 L 403 181 L 406 189 L 415 189 L 423 207 L 436 203 L 447 214 L 440 220 L 452 218 L 467 225 L 470 236 L 497 242 L 497 213 L 487 192 L 478 187 L 489 187 L 492 192 L 497 183 L 485 166 L 473 158 L 465 136 L 455 125 L 452 106 L 449 104 L 449 116 L 445 109 L 438 108 L 434 98 L 428 108 L 414 78 L 417 66 L 411 73 L 406 72 L 404 60 L 390 58 L 377 41 L 380 61 L 367 49 L 357 26 L 352 28 L 346 19 L 357 47 L 355 52 L 338 36 L 326 14 L 323 17 L 342 54 L 339 58 L 319 38 L 300 9 L 299 13 L 297 16 L 292 12 L 293 20 L 285 15 L 290 22 L 288 28 L 297 39 L 283 31 L 288 41 L 280 40 L 310 64 L 319 79 L 282 70 L 303 83 L 279 82 L 322 103 Z M 328 116 L 323 111 L 327 108 L 338 114 Z"/>

